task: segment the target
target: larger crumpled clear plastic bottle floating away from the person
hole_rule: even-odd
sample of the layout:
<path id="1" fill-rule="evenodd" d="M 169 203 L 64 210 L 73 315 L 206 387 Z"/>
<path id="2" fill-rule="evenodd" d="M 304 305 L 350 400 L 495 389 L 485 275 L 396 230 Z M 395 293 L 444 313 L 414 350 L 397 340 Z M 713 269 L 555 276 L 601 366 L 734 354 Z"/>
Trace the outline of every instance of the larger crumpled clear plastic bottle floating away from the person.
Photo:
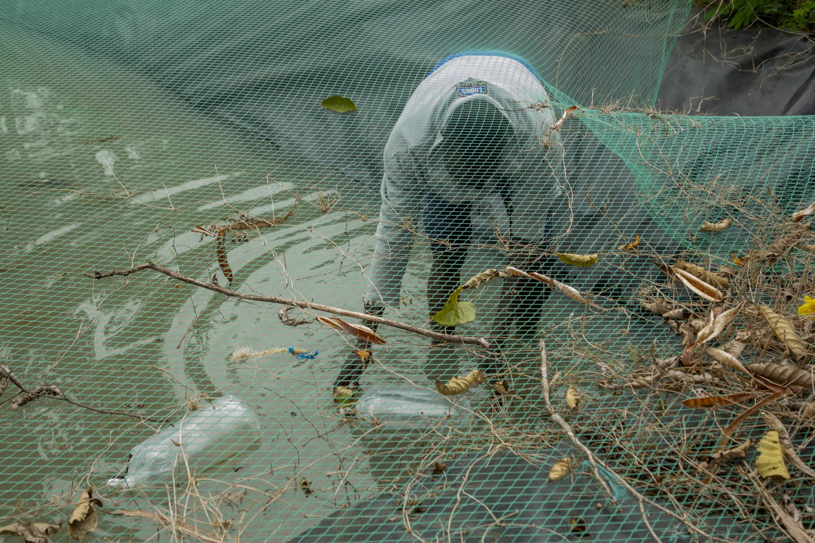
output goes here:
<path id="1" fill-rule="evenodd" d="M 125 473 L 108 480 L 108 487 L 168 484 L 184 462 L 191 471 L 196 466 L 199 471 L 220 466 L 252 449 L 258 440 L 260 419 L 248 404 L 235 396 L 201 401 L 198 409 L 136 445 Z"/>

